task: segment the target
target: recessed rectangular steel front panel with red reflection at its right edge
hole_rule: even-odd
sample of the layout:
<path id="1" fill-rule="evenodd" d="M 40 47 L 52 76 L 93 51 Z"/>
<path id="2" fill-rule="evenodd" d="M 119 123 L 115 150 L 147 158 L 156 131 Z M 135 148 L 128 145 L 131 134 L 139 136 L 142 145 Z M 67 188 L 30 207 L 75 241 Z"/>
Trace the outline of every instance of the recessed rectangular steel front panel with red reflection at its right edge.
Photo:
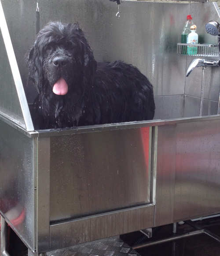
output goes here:
<path id="1" fill-rule="evenodd" d="M 149 204 L 149 132 L 51 137 L 50 220 Z"/>

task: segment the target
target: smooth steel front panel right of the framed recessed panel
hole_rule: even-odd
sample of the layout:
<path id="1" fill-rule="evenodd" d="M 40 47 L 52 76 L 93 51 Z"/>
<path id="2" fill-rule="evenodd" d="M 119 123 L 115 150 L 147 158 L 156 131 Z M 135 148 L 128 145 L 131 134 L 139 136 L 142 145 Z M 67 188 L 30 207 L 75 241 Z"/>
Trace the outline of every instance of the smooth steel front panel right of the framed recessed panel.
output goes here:
<path id="1" fill-rule="evenodd" d="M 155 226 L 220 212 L 220 120 L 158 127 Z"/>

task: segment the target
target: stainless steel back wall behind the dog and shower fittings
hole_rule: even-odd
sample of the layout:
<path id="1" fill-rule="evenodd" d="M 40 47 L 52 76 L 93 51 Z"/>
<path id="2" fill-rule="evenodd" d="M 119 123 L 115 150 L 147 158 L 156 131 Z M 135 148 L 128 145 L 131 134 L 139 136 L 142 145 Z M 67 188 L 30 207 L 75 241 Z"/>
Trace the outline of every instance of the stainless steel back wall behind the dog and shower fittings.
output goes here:
<path id="1" fill-rule="evenodd" d="M 2 2 L 22 81 L 26 87 L 24 56 L 35 38 L 36 1 Z M 187 78 L 184 87 L 186 61 L 188 64 L 192 57 L 177 56 L 176 43 L 180 42 L 183 24 L 189 13 L 198 25 L 198 33 L 205 33 L 205 22 L 217 19 L 212 3 L 123 1 L 120 19 L 115 17 L 116 4 L 108 0 L 39 0 L 39 7 L 41 27 L 51 20 L 79 22 L 98 61 L 121 59 L 137 66 L 154 85 L 155 96 L 178 97 L 184 93 L 199 96 L 199 69 L 194 70 Z M 206 42 L 216 41 L 216 38 L 208 34 L 204 37 Z M 219 72 L 216 69 L 207 70 L 205 79 L 205 98 L 216 100 Z M 29 102 L 33 102 L 36 93 L 34 89 L 26 88 L 26 93 Z M 156 105 L 156 108 L 161 108 L 161 105 Z M 172 116 L 175 117 L 176 115 Z"/>

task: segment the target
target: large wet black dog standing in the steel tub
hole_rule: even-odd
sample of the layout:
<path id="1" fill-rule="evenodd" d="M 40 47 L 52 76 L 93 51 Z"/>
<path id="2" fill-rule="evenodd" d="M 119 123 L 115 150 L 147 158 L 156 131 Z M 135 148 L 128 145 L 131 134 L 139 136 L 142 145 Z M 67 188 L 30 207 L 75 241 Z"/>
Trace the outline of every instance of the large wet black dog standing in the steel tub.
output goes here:
<path id="1" fill-rule="evenodd" d="M 97 63 L 78 24 L 51 22 L 27 59 L 37 87 L 35 129 L 153 119 L 152 85 L 121 61 Z"/>

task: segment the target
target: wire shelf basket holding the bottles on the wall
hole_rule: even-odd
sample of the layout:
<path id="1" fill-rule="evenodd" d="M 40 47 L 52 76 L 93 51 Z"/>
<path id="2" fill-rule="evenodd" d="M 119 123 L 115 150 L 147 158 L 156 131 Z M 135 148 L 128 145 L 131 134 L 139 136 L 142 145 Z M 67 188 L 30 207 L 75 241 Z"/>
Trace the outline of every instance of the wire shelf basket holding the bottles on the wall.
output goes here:
<path id="1" fill-rule="evenodd" d="M 218 45 L 214 44 L 177 44 L 177 53 L 191 56 L 218 57 Z"/>

